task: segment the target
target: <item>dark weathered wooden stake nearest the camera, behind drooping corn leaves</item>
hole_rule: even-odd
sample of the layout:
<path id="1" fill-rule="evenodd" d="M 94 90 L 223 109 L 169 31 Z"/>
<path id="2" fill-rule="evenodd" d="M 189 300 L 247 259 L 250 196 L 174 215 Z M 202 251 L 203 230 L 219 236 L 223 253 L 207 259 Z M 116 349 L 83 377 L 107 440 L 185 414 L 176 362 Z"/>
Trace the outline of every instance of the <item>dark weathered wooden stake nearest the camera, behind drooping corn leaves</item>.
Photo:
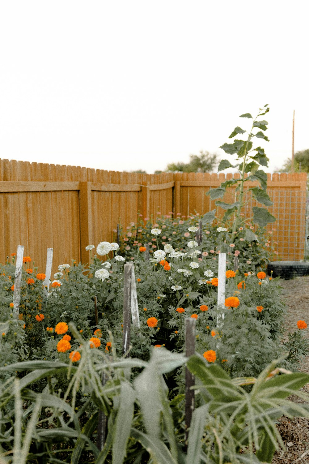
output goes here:
<path id="1" fill-rule="evenodd" d="M 195 319 L 190 318 L 186 319 L 186 341 L 185 341 L 185 348 L 186 348 L 186 357 L 192 356 L 195 354 Z M 194 385 L 194 375 L 191 374 L 188 367 L 186 367 L 186 377 L 185 377 L 185 406 L 184 406 L 184 423 L 185 423 L 185 430 L 186 430 L 186 446 L 187 440 L 189 435 L 189 427 L 191 424 L 192 413 L 195 407 L 195 400 L 194 400 L 194 390 L 191 390 L 190 387 Z"/>

